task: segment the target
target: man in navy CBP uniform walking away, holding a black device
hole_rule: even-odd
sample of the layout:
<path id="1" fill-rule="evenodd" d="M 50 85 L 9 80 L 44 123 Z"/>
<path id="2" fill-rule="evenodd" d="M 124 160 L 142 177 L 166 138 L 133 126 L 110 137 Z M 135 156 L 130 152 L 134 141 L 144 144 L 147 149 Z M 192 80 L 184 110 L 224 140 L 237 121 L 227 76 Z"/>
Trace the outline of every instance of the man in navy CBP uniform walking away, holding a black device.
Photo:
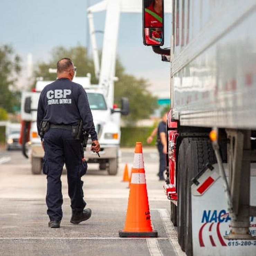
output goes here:
<path id="1" fill-rule="evenodd" d="M 78 134 L 82 121 L 83 130 L 91 135 L 91 150 L 100 151 L 97 133 L 87 94 L 82 85 L 72 82 L 76 69 L 69 58 L 57 63 L 57 80 L 41 92 L 37 110 L 37 130 L 45 151 L 43 173 L 47 175 L 48 226 L 59 228 L 62 220 L 61 174 L 67 169 L 68 195 L 71 200 L 70 222 L 78 224 L 91 217 L 91 209 L 85 208 L 82 175 L 87 163 L 82 161 L 82 136 Z"/>

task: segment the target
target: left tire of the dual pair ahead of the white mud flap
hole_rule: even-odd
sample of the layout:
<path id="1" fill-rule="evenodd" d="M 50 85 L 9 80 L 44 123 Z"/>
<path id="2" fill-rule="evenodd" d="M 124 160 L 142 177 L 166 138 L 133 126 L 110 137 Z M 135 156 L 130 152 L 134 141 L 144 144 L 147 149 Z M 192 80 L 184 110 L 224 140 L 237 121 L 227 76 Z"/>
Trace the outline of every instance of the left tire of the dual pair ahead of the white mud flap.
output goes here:
<path id="1" fill-rule="evenodd" d="M 186 226 L 186 177 L 187 170 L 185 169 L 186 152 L 189 147 L 190 138 L 184 138 L 181 142 L 178 155 L 177 166 L 177 229 L 178 229 L 178 241 L 181 249 L 185 249 L 185 226 Z"/>

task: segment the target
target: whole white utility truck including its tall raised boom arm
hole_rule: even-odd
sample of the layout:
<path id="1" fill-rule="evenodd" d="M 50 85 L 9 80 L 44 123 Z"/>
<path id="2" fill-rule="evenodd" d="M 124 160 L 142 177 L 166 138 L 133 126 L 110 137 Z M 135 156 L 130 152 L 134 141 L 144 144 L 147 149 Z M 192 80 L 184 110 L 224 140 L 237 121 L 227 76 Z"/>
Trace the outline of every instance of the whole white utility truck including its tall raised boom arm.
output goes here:
<path id="1" fill-rule="evenodd" d="M 102 46 L 101 66 L 95 39 L 93 13 L 106 10 L 105 29 Z M 85 157 L 89 163 L 99 163 L 99 169 L 107 168 L 110 175 L 118 171 L 120 157 L 120 113 L 127 115 L 129 103 L 127 98 L 121 99 L 121 108 L 114 108 L 114 82 L 116 67 L 116 51 L 121 12 L 141 12 L 140 3 L 135 0 L 101 1 L 87 10 L 89 20 L 90 38 L 93 48 L 95 74 L 99 78 L 98 85 L 90 84 L 90 75 L 74 77 L 74 82 L 80 83 L 88 94 L 88 99 L 101 145 L 100 157 L 90 152 L 90 140 L 85 150 Z M 26 142 L 30 140 L 29 156 L 31 157 L 32 173 L 39 174 L 42 170 L 44 152 L 36 130 L 36 110 L 40 91 L 52 81 L 37 81 L 35 92 L 22 93 L 21 119 L 22 119 L 22 145 L 23 154 L 28 157 Z"/>

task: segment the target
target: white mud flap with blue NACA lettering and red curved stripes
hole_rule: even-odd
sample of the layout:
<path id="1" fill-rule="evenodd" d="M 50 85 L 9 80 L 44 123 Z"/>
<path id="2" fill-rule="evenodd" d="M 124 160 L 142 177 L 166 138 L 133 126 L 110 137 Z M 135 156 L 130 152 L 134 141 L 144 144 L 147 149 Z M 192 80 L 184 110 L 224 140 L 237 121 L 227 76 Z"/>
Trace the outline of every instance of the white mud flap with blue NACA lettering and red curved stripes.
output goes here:
<path id="1" fill-rule="evenodd" d="M 218 173 L 218 165 L 214 164 Z M 210 174 L 216 176 L 213 171 Z M 205 175 L 207 172 L 205 172 Z M 209 177 L 209 176 L 208 176 Z M 201 185 L 208 179 L 201 176 Z M 209 179 L 208 179 L 209 181 Z M 207 182 L 209 184 L 209 182 Z M 207 189 L 200 184 L 191 186 L 193 255 L 251 256 L 256 252 L 256 240 L 227 240 L 230 232 L 228 205 L 221 179 L 216 179 Z M 199 190 L 199 191 L 198 191 Z M 250 205 L 256 204 L 256 176 L 251 176 Z M 201 193 L 203 191 L 203 193 Z M 200 193 L 199 193 L 200 192 Z M 256 235 L 256 218 L 250 217 L 250 232 Z"/>

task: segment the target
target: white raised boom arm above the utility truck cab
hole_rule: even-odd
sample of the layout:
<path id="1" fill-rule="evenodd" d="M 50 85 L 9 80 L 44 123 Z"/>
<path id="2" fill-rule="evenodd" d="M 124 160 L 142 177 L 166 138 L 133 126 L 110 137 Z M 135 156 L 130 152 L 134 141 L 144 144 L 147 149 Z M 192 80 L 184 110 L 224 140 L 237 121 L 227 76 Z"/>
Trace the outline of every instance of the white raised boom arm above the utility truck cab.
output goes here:
<path id="1" fill-rule="evenodd" d="M 103 10 L 106 10 L 106 20 L 100 66 L 93 23 L 93 13 Z M 114 103 L 114 82 L 117 81 L 115 71 L 118 29 L 121 12 L 141 12 L 140 2 L 136 0 L 104 0 L 87 9 L 95 75 L 96 77 L 99 77 L 99 87 L 104 89 L 106 92 L 107 103 L 109 106 L 112 106 Z"/>

